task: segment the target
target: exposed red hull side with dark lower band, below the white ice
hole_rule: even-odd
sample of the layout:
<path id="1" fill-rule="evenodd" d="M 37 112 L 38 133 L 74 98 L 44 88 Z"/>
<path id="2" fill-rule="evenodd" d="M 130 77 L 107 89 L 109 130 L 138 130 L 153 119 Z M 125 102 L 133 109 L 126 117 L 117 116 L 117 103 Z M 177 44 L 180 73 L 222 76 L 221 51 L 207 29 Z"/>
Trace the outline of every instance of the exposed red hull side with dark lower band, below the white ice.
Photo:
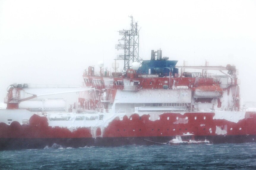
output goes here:
<path id="1" fill-rule="evenodd" d="M 193 133 L 196 140 L 207 139 L 211 143 L 255 142 L 255 112 L 246 112 L 245 118 L 238 123 L 213 119 L 214 115 L 165 113 L 160 115 L 159 120 L 150 121 L 148 115 L 132 114 L 132 120 L 127 116 L 124 116 L 123 120 L 116 118 L 103 132 L 98 128 L 97 137 L 92 137 L 90 128 L 78 128 L 71 132 L 67 128 L 50 127 L 46 117 L 34 114 L 29 119 L 29 125 L 20 125 L 18 122 L 12 122 L 10 125 L 0 123 L 0 150 L 44 148 L 54 143 L 62 147 L 157 145 L 166 143 L 183 132 Z M 177 117 L 180 120 L 186 120 L 188 117 L 189 121 L 176 124 Z M 222 130 L 226 129 L 227 133 L 218 134 L 218 127 L 223 127 Z M 102 137 L 99 137 L 100 135 Z"/>

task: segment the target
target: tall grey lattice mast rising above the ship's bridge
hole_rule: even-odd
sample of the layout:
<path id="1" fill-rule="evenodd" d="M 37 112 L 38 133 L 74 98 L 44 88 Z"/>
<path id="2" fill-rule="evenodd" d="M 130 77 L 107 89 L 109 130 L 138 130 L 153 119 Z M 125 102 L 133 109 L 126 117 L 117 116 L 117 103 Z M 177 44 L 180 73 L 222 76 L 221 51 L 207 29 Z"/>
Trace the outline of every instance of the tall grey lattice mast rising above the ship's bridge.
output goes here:
<path id="1" fill-rule="evenodd" d="M 116 60 L 124 60 L 124 68 L 123 71 L 126 72 L 127 69 L 130 69 L 130 66 L 133 62 L 137 61 L 140 64 L 142 63 L 142 59 L 139 57 L 139 30 L 138 30 L 138 22 L 134 22 L 132 16 L 131 18 L 131 28 L 130 30 L 120 30 L 119 35 L 123 35 L 121 39 L 119 39 L 119 44 L 116 44 L 116 49 L 123 49 L 124 54 L 117 55 Z"/>

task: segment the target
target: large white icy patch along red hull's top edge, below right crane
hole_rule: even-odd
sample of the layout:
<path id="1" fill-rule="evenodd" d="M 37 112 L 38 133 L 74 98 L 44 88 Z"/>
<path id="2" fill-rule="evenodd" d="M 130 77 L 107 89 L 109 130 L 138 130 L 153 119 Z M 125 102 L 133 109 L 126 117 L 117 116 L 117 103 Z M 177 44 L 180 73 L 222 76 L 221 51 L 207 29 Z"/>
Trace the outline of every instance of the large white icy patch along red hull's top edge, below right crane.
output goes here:
<path id="1" fill-rule="evenodd" d="M 238 123 L 245 118 L 245 111 L 216 111 L 213 119 L 225 119 L 230 122 Z"/>

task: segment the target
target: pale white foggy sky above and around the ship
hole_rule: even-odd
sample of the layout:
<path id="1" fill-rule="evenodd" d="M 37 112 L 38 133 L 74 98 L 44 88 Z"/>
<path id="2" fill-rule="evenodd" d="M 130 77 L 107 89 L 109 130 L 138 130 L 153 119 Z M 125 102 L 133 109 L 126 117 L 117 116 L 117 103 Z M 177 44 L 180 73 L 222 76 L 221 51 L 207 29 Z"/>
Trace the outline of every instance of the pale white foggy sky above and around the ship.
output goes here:
<path id="1" fill-rule="evenodd" d="M 99 60 L 110 69 L 129 15 L 140 27 L 141 58 L 161 48 L 178 65 L 234 64 L 241 97 L 256 101 L 256 1 L 1 0 L 0 102 L 15 82 L 80 85 Z"/>

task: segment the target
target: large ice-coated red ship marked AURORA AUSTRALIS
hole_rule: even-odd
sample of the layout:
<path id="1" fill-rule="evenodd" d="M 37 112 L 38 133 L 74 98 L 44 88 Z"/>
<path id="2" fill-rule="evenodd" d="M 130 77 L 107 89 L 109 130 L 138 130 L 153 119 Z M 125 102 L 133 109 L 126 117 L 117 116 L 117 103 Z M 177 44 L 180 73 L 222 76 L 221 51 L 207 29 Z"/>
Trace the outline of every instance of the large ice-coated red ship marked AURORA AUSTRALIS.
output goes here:
<path id="1" fill-rule="evenodd" d="M 99 71 L 84 70 L 80 87 L 10 85 L 7 109 L 0 109 L 0 150 L 154 145 L 183 134 L 213 144 L 255 141 L 256 112 L 241 107 L 236 66 L 177 66 L 161 49 L 143 60 L 132 16 L 130 26 L 119 31 L 116 49 L 124 53 L 112 72 L 99 62 Z M 39 99 L 72 92 L 79 96 L 68 108 L 64 99 Z"/>

